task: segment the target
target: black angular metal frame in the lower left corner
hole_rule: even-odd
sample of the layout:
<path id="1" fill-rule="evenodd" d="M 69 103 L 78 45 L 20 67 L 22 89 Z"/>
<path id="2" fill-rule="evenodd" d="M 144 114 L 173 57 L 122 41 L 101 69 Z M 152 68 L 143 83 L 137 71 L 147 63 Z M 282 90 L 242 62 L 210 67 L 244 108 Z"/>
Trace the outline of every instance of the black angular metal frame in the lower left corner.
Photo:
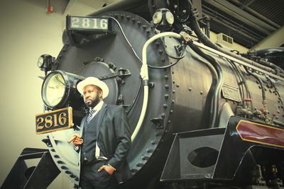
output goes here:
<path id="1" fill-rule="evenodd" d="M 28 168 L 25 161 L 31 160 L 35 163 L 35 159 L 40 159 L 38 165 Z M 47 188 L 59 173 L 48 149 L 26 148 L 18 157 L 1 189 Z"/>

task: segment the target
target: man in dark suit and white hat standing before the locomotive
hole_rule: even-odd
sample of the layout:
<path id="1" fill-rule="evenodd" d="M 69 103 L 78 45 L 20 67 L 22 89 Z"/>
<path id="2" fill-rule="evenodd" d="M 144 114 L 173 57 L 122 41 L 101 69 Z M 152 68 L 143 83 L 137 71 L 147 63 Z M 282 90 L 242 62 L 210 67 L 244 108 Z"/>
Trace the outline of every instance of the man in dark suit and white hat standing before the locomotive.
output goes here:
<path id="1" fill-rule="evenodd" d="M 126 161 L 131 146 L 126 113 L 121 106 L 104 103 L 109 88 L 95 77 L 80 81 L 77 90 L 89 107 L 81 122 L 82 136 L 75 134 L 71 139 L 81 148 L 80 187 L 116 189 L 119 181 L 131 176 Z"/>

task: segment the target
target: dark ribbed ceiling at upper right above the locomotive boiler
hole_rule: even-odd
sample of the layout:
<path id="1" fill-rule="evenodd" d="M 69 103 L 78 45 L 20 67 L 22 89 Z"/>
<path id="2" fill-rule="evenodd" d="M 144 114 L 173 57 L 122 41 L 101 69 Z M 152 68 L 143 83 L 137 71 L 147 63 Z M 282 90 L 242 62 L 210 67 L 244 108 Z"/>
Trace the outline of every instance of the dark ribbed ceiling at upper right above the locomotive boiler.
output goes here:
<path id="1" fill-rule="evenodd" d="M 282 32 L 284 26 L 283 0 L 202 0 L 202 13 L 211 18 L 212 31 L 229 35 L 247 48 Z M 277 40 L 283 47 L 284 33 Z"/>

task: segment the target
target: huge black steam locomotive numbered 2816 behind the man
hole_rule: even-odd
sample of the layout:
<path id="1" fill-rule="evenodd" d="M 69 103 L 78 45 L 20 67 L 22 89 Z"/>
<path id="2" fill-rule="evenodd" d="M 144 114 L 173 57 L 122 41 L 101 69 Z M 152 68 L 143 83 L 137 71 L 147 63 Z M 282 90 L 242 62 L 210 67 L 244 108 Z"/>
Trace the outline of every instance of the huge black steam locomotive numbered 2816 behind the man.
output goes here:
<path id="1" fill-rule="evenodd" d="M 96 76 L 131 125 L 132 178 L 121 188 L 283 188 L 283 68 L 214 44 L 196 14 L 189 0 L 125 0 L 67 16 L 58 57 L 38 62 L 47 111 L 37 131 L 49 132 L 41 152 L 57 174 L 78 186 L 67 140 L 87 108 L 76 84 Z"/>

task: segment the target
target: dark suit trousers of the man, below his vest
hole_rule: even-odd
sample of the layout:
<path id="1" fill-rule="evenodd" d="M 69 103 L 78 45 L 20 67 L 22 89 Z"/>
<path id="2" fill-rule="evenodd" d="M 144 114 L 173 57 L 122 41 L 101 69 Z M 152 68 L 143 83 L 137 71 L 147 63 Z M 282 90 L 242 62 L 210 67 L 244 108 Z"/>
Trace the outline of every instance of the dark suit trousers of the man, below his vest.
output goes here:
<path id="1" fill-rule="evenodd" d="M 117 189 L 119 184 L 114 174 L 110 175 L 107 171 L 98 169 L 107 161 L 98 163 L 84 161 L 81 166 L 80 188 L 82 189 Z"/>

